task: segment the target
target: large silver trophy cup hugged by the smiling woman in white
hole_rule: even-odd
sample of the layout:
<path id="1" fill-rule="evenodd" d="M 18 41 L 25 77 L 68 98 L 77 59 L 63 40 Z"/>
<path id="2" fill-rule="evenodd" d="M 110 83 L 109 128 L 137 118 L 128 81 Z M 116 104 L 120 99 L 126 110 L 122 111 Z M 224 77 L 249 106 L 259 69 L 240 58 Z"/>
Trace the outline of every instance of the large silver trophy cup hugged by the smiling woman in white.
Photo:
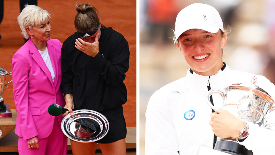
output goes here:
<path id="1" fill-rule="evenodd" d="M 223 105 L 220 108 L 214 107 L 210 102 L 210 96 L 217 93 L 223 98 Z M 206 94 L 206 101 L 212 109 L 223 109 L 229 111 L 237 119 L 253 122 L 261 127 L 270 129 L 275 123 L 268 123 L 266 115 L 275 110 L 274 100 L 262 88 L 256 85 L 255 76 L 251 83 L 237 83 L 225 87 L 224 90 L 211 89 Z M 238 140 L 232 137 L 219 139 L 214 149 L 234 155 L 252 155 L 245 146 L 237 143 Z"/>

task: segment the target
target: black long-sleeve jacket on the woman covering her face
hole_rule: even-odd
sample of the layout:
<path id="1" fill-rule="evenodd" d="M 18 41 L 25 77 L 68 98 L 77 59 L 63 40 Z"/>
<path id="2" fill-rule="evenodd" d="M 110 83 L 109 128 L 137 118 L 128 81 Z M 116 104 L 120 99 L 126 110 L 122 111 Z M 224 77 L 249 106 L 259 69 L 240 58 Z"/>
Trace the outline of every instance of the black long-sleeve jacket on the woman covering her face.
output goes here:
<path id="1" fill-rule="evenodd" d="M 74 33 L 61 49 L 61 88 L 64 96 L 72 93 L 74 109 L 103 111 L 124 104 L 127 100 L 123 83 L 129 68 L 128 42 L 111 27 L 101 26 L 99 53 L 91 57 L 76 49 Z"/>

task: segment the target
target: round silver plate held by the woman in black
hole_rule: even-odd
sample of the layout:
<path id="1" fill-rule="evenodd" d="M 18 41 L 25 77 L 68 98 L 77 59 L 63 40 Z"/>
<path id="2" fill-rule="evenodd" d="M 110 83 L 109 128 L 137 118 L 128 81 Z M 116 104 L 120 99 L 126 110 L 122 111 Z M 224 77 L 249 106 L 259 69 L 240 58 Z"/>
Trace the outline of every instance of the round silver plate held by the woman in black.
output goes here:
<path id="1" fill-rule="evenodd" d="M 76 142 L 95 142 L 109 131 L 109 122 L 101 113 L 92 110 L 76 110 L 74 116 L 66 115 L 61 122 L 63 133 Z"/>

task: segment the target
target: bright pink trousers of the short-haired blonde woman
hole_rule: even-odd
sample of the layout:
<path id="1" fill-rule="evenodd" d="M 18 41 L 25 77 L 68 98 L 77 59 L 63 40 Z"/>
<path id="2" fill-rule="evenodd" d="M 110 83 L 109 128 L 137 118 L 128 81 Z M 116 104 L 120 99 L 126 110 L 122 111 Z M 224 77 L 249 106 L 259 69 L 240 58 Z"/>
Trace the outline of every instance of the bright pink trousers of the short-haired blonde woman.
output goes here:
<path id="1" fill-rule="evenodd" d="M 66 155 L 67 137 L 63 134 L 57 117 L 54 119 L 52 133 L 43 139 L 38 139 L 39 148 L 28 148 L 27 140 L 23 137 L 18 138 L 19 155 Z"/>

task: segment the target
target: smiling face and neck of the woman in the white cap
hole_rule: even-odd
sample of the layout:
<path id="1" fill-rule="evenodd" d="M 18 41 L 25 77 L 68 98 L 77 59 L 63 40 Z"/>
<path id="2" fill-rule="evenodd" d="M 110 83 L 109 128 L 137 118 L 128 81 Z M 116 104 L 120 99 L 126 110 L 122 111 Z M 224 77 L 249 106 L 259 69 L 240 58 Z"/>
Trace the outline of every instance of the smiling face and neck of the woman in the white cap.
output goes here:
<path id="1" fill-rule="evenodd" d="M 185 61 L 195 73 L 210 76 L 217 74 L 223 66 L 221 49 L 225 46 L 227 35 L 210 33 L 201 29 L 183 32 L 176 42 Z"/>

